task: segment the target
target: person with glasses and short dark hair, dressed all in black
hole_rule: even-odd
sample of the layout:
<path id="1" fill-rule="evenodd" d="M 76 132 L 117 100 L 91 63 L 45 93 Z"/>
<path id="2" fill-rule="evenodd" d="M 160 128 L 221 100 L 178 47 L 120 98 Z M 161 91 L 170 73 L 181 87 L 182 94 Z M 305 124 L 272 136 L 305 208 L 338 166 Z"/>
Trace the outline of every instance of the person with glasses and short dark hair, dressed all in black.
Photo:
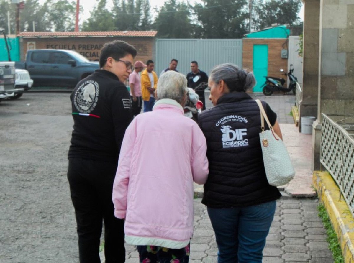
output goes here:
<path id="1" fill-rule="evenodd" d="M 101 69 L 81 80 L 70 99 L 74 119 L 68 159 L 80 263 L 101 262 L 104 222 L 105 262 L 125 262 L 124 221 L 114 217 L 112 189 L 119 151 L 132 120 L 130 94 L 123 82 L 132 72 L 136 49 L 124 41 L 106 43 Z"/>

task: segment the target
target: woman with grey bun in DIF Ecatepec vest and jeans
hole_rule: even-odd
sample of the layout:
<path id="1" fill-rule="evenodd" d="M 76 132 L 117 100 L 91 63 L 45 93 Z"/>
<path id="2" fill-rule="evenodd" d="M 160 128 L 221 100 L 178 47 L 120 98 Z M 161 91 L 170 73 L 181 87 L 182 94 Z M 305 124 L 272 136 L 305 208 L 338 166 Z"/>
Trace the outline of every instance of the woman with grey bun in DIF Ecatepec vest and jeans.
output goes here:
<path id="1" fill-rule="evenodd" d="M 259 141 L 259 108 L 245 92 L 255 82 L 252 73 L 234 64 L 217 65 L 208 81 L 215 107 L 198 116 L 209 160 L 202 203 L 215 231 L 218 263 L 262 262 L 275 200 L 281 196 L 268 184 Z M 282 138 L 276 114 L 267 103 L 262 104 Z"/>

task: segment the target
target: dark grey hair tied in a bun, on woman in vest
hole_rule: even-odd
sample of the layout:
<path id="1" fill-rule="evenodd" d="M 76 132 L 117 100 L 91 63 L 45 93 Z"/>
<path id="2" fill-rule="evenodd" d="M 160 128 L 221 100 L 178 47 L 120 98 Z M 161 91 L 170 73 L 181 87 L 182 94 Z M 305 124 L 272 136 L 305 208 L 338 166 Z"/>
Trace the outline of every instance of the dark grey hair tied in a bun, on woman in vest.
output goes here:
<path id="1" fill-rule="evenodd" d="M 223 80 L 230 92 L 245 92 L 248 88 L 253 88 L 256 85 L 256 79 L 252 72 L 239 69 L 237 65 L 232 63 L 216 65 L 211 70 L 210 79 L 215 83 Z"/>

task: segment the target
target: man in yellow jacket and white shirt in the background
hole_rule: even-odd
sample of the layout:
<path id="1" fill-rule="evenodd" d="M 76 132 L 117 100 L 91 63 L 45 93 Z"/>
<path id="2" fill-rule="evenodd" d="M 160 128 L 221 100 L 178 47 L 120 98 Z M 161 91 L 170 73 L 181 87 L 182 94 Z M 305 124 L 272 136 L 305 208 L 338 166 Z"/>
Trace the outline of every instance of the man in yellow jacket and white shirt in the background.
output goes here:
<path id="1" fill-rule="evenodd" d="M 153 71 L 154 62 L 149 59 L 146 69 L 141 73 L 141 93 L 144 101 L 144 112 L 151 112 L 155 104 L 158 77 Z"/>

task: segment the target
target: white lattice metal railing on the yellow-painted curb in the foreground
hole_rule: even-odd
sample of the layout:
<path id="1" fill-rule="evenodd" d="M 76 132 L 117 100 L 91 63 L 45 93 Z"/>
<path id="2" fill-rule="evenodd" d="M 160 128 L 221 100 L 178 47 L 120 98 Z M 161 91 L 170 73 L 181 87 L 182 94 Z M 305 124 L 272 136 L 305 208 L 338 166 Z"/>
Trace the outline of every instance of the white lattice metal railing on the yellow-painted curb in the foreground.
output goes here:
<path id="1" fill-rule="evenodd" d="M 352 124 L 338 124 L 322 113 L 321 164 L 336 181 L 354 215 L 354 139 Z"/>

